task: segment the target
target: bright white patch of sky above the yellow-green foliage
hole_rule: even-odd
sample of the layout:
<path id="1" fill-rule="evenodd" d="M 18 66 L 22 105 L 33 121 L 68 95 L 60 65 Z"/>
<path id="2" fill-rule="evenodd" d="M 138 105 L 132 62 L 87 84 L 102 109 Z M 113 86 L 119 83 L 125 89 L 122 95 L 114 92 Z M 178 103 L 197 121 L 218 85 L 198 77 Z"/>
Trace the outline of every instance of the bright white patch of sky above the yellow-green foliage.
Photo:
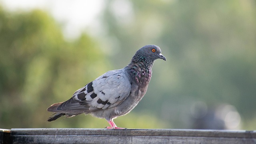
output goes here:
<path id="1" fill-rule="evenodd" d="M 0 0 L 0 4 L 10 11 L 46 10 L 63 26 L 69 39 L 79 37 L 84 30 L 97 29 L 104 8 L 104 0 Z"/>

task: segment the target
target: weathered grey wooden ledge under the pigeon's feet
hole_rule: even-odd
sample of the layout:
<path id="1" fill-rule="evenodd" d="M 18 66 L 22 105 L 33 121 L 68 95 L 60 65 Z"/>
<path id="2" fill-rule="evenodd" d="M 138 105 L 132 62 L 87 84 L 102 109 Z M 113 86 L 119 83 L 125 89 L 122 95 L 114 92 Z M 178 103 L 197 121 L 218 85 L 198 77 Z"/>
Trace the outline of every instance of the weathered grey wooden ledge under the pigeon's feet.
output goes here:
<path id="1" fill-rule="evenodd" d="M 256 131 L 28 128 L 11 129 L 4 140 L 13 144 L 256 144 Z"/>

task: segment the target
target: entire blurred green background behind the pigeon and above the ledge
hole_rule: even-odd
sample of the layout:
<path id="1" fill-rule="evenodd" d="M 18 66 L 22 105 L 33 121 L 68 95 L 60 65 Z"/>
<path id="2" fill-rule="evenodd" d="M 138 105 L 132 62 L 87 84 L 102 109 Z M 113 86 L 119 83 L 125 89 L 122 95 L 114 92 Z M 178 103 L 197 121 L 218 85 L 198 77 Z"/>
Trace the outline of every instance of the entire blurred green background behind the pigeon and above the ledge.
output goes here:
<path id="1" fill-rule="evenodd" d="M 51 104 L 158 45 L 126 128 L 256 129 L 255 0 L 0 0 L 0 128 L 104 128 Z"/>

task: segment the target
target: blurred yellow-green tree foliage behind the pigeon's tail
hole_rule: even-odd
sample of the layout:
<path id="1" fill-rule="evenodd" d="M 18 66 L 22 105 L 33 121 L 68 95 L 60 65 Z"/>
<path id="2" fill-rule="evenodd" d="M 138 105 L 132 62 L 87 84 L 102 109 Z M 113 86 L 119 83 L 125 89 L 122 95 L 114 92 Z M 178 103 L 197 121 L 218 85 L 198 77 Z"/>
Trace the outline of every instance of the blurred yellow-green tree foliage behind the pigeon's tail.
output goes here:
<path id="1" fill-rule="evenodd" d="M 0 8 L 0 51 L 0 128 L 54 126 L 45 122 L 46 108 L 70 98 L 108 65 L 95 39 L 83 34 L 65 41 L 60 26 L 40 10 Z M 78 119 L 63 123 L 79 125 Z"/>

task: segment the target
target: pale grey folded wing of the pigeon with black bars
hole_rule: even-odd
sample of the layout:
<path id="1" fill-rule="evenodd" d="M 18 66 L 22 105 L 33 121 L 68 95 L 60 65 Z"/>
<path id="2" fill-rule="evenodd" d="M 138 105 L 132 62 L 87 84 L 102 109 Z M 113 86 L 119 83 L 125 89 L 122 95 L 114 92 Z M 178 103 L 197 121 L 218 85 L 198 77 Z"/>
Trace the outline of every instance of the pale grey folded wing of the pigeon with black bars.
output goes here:
<path id="1" fill-rule="evenodd" d="M 52 105 L 52 112 L 82 113 L 120 105 L 130 94 L 131 84 L 123 69 L 108 71 L 78 89 L 71 99 Z"/>

